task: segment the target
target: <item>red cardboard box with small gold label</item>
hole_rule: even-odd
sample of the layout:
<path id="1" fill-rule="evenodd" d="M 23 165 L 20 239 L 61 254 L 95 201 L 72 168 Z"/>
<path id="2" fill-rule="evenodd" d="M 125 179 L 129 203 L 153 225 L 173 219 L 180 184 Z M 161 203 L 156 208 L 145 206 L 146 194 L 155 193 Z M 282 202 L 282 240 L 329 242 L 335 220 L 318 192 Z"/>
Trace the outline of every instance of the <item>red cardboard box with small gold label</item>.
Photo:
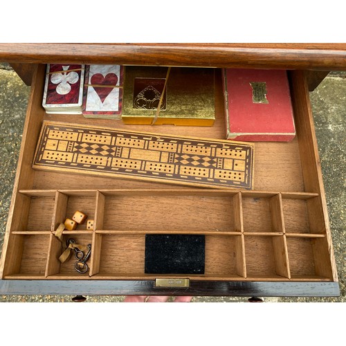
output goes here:
<path id="1" fill-rule="evenodd" d="M 284 70 L 224 69 L 226 138 L 288 142 L 295 137 Z"/>

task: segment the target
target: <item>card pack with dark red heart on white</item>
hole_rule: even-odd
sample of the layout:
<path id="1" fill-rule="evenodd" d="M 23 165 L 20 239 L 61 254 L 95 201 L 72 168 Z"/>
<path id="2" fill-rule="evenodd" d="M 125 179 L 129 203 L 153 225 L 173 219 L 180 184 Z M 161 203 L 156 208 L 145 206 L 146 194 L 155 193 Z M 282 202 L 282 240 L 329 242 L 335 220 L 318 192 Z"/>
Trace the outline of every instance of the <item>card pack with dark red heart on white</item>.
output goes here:
<path id="1" fill-rule="evenodd" d="M 87 65 L 82 113 L 85 118 L 121 119 L 123 66 Z"/>

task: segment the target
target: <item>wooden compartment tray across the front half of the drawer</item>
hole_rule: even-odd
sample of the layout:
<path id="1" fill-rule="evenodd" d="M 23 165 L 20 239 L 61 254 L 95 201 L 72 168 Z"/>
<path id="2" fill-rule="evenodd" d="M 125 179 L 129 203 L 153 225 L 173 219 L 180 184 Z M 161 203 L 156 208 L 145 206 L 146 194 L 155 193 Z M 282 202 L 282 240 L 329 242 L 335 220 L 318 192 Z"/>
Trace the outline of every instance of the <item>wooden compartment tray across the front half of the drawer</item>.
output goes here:
<path id="1" fill-rule="evenodd" d="M 206 236 L 206 271 L 197 275 L 199 280 L 212 277 L 217 280 L 331 280 L 329 264 L 325 264 L 326 235 L 320 228 L 311 226 L 315 221 L 309 220 L 318 212 L 310 209 L 320 206 L 314 203 L 316 198 L 315 193 L 309 192 L 208 189 L 20 190 L 17 201 L 25 208 L 21 215 L 16 215 L 22 221 L 14 223 L 17 229 L 11 232 L 4 275 L 22 279 L 139 277 L 145 280 L 153 276 L 144 273 L 145 235 L 170 233 Z M 52 203 L 52 199 L 53 216 L 46 215 L 51 218 L 51 224 L 46 223 L 47 229 L 43 221 L 37 230 L 32 226 L 30 230 L 25 229 L 27 220 L 35 219 L 41 212 L 41 203 Z M 195 204 L 197 200 L 199 203 Z M 159 204 L 153 203 L 160 201 L 178 211 L 174 215 L 179 220 L 178 226 L 170 230 L 160 227 L 167 226 L 165 221 L 160 221 L 162 218 L 167 217 L 169 223 L 174 219 L 161 213 L 156 217 L 158 226 L 147 224 L 148 228 L 140 228 L 146 213 L 157 211 Z M 290 213 L 292 207 L 294 212 Z M 63 264 L 58 260 L 66 244 L 55 237 L 55 230 L 66 217 L 72 217 L 75 209 L 86 210 L 94 220 L 92 230 L 80 227 L 63 232 L 65 242 L 68 237 L 74 237 L 77 243 L 92 244 L 89 271 L 85 274 L 75 272 L 73 253 Z M 206 222 L 201 216 L 208 210 L 212 210 L 212 218 Z M 135 219 L 131 221 L 132 228 L 126 226 L 126 219 L 118 224 L 120 219 L 116 215 L 123 217 L 124 212 Z M 298 232 L 295 232 L 296 215 L 304 226 Z M 197 224 L 191 226 L 193 222 Z M 37 268 L 35 261 L 38 261 Z"/>

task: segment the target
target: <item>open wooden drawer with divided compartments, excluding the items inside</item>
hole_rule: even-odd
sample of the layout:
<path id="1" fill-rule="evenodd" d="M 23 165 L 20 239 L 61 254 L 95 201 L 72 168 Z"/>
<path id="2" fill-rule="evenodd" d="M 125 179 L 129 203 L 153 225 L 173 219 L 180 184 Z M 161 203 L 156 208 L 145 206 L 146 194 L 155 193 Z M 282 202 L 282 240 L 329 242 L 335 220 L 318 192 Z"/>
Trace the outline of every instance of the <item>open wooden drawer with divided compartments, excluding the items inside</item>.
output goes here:
<path id="1" fill-rule="evenodd" d="M 11 293 L 174 295 L 338 295 L 325 192 L 304 71 L 290 71 L 296 138 L 255 143 L 254 190 L 212 190 L 33 170 L 44 120 L 157 134 L 225 138 L 221 71 L 216 70 L 212 127 L 143 127 L 121 120 L 46 114 L 45 66 L 33 78 L 21 154 L 1 258 Z M 96 123 L 97 122 L 97 123 Z M 89 271 L 60 263 L 55 233 L 75 210 L 93 229 L 64 230 L 91 244 Z M 145 273 L 145 235 L 205 235 L 205 273 Z M 188 279 L 176 288 L 157 279 Z M 30 280 L 30 281 L 29 281 Z M 30 284 L 28 285 L 28 282 Z M 170 282 L 170 280 L 168 280 Z M 25 288 L 24 288 L 25 285 Z"/>

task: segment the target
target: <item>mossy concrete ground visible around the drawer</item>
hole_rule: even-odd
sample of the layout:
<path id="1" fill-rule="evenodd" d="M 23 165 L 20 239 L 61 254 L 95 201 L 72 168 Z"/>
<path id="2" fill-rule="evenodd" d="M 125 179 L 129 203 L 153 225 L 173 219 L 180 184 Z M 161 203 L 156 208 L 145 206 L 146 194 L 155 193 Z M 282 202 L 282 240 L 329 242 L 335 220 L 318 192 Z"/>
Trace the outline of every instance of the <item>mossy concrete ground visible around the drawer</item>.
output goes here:
<path id="1" fill-rule="evenodd" d="M 0 64 L 0 255 L 17 169 L 30 87 L 8 64 Z M 266 302 L 345 302 L 346 72 L 329 73 L 310 93 L 327 206 L 340 280 L 336 298 L 265 298 Z M 2 295 L 0 302 L 71 302 L 68 295 Z M 87 296 L 88 302 L 121 302 L 123 296 Z M 247 298 L 194 297 L 192 302 L 246 302 Z"/>

